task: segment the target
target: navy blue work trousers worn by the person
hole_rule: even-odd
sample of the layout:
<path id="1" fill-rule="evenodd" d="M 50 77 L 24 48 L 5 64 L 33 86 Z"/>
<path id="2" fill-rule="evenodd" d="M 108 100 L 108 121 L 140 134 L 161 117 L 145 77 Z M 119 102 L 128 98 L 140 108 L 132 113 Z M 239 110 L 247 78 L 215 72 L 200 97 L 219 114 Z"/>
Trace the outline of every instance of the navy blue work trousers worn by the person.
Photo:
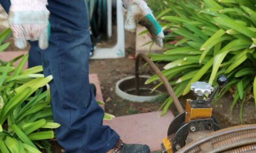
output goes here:
<path id="1" fill-rule="evenodd" d="M 8 12 L 9 0 L 0 0 Z M 51 12 L 49 47 L 40 50 L 31 42 L 29 65 L 42 65 L 49 83 L 57 140 L 66 153 L 99 152 L 113 148 L 119 139 L 109 126 L 102 126 L 104 111 L 89 87 L 90 34 L 84 0 L 48 0 Z"/>

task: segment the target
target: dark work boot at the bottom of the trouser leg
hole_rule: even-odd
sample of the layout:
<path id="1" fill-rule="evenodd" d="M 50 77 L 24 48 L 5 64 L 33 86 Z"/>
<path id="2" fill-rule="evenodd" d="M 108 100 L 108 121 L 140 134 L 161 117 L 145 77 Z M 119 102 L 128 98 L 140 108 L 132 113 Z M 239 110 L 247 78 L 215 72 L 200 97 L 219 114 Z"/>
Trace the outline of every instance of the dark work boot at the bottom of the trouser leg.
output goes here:
<path id="1" fill-rule="evenodd" d="M 110 153 L 150 153 L 147 145 L 125 144 L 121 140 L 117 142 L 114 149 Z"/>

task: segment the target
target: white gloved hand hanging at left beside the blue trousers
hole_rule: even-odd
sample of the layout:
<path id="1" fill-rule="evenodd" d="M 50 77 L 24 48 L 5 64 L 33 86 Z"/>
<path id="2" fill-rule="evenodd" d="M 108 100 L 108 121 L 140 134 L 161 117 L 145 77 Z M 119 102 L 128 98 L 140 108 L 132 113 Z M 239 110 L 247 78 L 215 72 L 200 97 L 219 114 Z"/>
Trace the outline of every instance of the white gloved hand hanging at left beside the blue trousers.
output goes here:
<path id="1" fill-rule="evenodd" d="M 11 0 L 9 23 L 19 49 L 26 48 L 26 40 L 39 40 L 41 49 L 48 48 L 50 13 L 46 5 L 47 0 Z"/>

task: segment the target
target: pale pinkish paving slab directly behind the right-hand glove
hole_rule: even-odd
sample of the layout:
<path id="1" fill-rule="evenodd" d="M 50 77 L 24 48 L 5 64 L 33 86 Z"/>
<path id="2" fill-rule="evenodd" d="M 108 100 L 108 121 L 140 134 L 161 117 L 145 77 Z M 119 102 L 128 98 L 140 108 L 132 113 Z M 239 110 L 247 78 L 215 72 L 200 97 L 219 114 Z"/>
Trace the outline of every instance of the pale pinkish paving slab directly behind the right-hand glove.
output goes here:
<path id="1" fill-rule="evenodd" d="M 139 35 L 142 31 L 146 30 L 146 28 L 139 25 L 136 30 L 136 54 L 143 53 L 147 54 L 151 44 L 146 44 L 147 42 L 152 41 L 151 36 L 149 34 L 143 34 Z M 154 44 L 152 46 L 152 49 L 150 50 L 151 54 L 162 54 L 162 48 L 160 48 L 158 45 Z"/>

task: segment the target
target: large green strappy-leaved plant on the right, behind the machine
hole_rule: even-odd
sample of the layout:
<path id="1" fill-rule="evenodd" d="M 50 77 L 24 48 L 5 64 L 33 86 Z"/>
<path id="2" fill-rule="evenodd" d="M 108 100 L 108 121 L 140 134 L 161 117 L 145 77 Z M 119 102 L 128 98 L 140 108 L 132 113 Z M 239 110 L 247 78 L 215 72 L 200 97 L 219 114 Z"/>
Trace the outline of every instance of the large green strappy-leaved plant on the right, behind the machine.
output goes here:
<path id="1" fill-rule="evenodd" d="M 162 71 L 177 96 L 186 95 L 193 82 L 204 80 L 214 87 L 219 75 L 229 83 L 214 97 L 233 94 L 233 109 L 256 96 L 256 1 L 198 0 L 164 1 L 162 25 L 166 35 L 164 53 L 149 55 L 154 62 L 168 62 Z M 154 75 L 146 83 L 159 80 Z M 159 87 L 162 83 L 159 83 Z M 166 114 L 172 103 L 163 106 Z M 256 105 L 256 100 L 255 100 Z M 255 109 L 255 108 L 252 108 Z"/>

